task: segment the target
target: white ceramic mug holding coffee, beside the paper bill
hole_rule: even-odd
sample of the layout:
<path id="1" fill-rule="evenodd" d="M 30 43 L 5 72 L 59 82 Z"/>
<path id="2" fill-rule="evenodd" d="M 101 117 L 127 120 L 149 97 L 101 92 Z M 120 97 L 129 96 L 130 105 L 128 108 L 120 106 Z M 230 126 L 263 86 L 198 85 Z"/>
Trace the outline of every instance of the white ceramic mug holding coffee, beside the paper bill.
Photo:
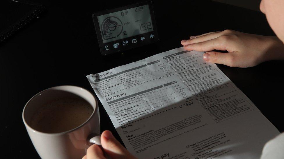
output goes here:
<path id="1" fill-rule="evenodd" d="M 44 103 L 58 97 L 79 96 L 93 107 L 94 111 L 85 123 L 74 129 L 60 133 L 44 133 L 30 127 L 33 114 Z M 88 90 L 76 86 L 57 86 L 45 89 L 33 96 L 23 110 L 23 121 L 36 151 L 43 159 L 82 158 L 91 145 L 100 144 L 100 115 L 97 99 Z M 95 136 L 95 137 L 94 137 Z M 91 140 L 90 140 L 91 139 Z"/>

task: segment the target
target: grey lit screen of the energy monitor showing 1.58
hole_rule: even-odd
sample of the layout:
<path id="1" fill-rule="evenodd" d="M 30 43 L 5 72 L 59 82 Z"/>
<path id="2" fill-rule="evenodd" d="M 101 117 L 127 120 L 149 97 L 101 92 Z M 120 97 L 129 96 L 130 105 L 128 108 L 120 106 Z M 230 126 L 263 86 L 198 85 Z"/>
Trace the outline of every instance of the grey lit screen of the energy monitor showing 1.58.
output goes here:
<path id="1" fill-rule="evenodd" d="M 97 17 L 103 43 L 153 31 L 149 5 Z"/>

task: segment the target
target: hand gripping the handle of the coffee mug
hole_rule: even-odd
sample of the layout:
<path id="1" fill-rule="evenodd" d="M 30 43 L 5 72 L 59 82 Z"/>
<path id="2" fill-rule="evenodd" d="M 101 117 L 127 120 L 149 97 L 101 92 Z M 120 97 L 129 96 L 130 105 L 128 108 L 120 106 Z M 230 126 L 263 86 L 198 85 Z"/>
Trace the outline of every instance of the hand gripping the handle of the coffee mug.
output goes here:
<path id="1" fill-rule="evenodd" d="M 116 140 L 116 138 L 114 138 L 109 130 L 106 130 L 102 133 L 101 143 L 103 150 L 100 148 L 100 146 L 93 144 L 87 149 L 87 154 L 82 159 L 106 159 L 104 152 L 111 158 L 135 158 L 118 142 L 118 140 Z"/>

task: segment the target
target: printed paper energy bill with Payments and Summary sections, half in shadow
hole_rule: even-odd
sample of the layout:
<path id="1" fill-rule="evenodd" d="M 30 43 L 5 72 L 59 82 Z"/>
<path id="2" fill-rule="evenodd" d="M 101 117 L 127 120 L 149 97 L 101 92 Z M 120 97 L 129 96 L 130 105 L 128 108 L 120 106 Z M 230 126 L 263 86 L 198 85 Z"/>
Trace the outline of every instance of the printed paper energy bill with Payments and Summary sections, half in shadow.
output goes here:
<path id="1" fill-rule="evenodd" d="M 203 54 L 181 47 L 87 76 L 134 156 L 259 158 L 280 134 Z"/>

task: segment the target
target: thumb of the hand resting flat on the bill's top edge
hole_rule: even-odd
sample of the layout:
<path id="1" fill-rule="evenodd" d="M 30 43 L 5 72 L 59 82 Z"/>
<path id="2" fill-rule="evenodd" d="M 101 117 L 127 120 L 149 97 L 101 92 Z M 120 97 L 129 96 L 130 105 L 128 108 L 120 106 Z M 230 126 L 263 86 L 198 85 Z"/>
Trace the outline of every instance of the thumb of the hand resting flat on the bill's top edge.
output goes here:
<path id="1" fill-rule="evenodd" d="M 203 54 L 203 59 L 211 63 L 219 63 L 230 67 L 234 67 L 235 65 L 232 52 L 222 53 L 210 51 Z"/>

